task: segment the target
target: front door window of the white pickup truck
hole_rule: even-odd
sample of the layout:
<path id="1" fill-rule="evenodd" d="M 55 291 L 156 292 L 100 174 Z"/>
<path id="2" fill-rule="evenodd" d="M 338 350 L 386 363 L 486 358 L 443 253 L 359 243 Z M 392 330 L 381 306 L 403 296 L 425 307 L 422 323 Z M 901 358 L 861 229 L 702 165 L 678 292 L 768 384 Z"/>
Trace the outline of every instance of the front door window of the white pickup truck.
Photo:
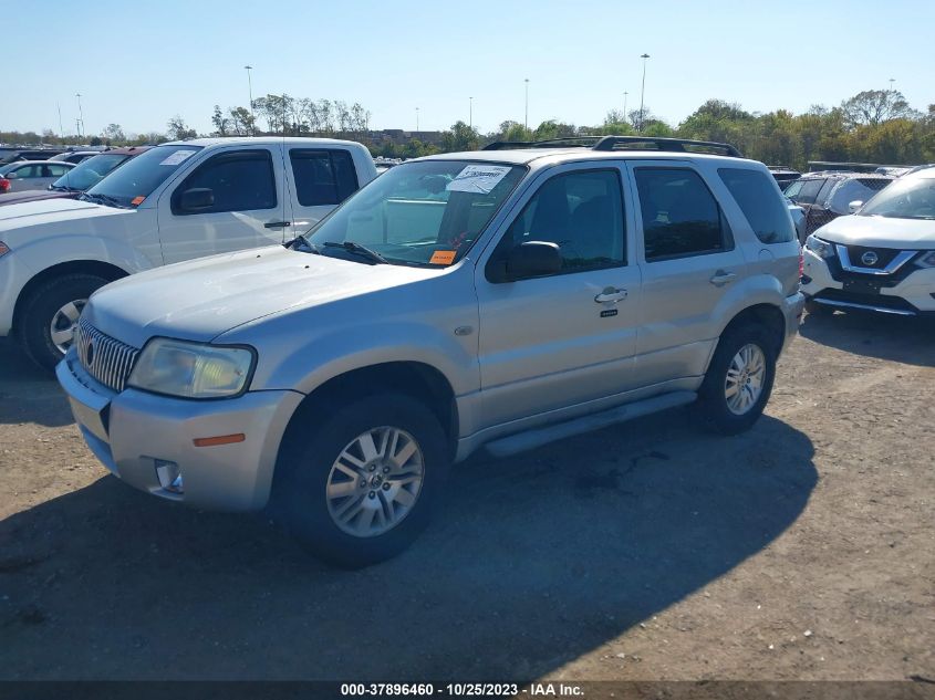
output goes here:
<path id="1" fill-rule="evenodd" d="M 178 208 L 178 199 L 189 189 L 209 189 L 214 205 L 197 212 Z M 173 213 L 218 213 L 222 211 L 254 211 L 277 206 L 276 174 L 272 156 L 267 149 L 233 150 L 209 158 L 176 188 Z"/>

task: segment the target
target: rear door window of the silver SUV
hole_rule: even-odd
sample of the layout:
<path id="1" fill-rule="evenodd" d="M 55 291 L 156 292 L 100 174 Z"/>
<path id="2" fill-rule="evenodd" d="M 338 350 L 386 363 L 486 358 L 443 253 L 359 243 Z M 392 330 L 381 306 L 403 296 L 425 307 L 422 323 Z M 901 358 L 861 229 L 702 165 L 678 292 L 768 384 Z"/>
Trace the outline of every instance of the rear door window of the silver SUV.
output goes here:
<path id="1" fill-rule="evenodd" d="M 646 261 L 730 250 L 734 241 L 717 200 L 687 168 L 636 168 Z"/>

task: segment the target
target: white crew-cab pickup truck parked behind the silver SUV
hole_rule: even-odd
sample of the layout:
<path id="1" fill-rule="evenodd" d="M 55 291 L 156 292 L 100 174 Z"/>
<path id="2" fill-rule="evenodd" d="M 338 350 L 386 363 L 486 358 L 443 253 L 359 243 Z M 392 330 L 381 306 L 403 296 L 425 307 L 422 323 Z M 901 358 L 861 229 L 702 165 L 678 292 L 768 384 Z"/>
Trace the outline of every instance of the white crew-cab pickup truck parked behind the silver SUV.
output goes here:
<path id="1" fill-rule="evenodd" d="M 376 177 L 361 144 L 199 138 L 149 149 L 80 199 L 0 209 L 0 336 L 49 369 L 98 288 L 294 238 Z"/>

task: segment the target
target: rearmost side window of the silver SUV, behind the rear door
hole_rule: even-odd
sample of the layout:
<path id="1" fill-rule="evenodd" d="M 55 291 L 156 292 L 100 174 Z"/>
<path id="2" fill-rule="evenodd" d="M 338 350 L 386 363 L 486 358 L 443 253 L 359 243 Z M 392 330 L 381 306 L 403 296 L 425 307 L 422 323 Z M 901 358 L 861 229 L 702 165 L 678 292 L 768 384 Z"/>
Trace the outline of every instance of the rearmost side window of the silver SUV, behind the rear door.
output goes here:
<path id="1" fill-rule="evenodd" d="M 768 175 L 742 168 L 719 168 L 717 174 L 761 242 L 788 243 L 796 238 L 786 202 Z"/>

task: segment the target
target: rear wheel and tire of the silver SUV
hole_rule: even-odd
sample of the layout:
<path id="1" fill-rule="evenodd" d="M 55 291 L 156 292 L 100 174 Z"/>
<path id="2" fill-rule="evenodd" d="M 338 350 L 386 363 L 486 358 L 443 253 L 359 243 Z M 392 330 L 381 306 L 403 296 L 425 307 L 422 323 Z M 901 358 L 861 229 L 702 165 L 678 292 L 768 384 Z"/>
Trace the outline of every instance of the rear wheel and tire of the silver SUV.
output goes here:
<path id="1" fill-rule="evenodd" d="M 705 375 L 698 406 L 723 435 L 749 430 L 762 415 L 776 377 L 776 348 L 760 325 L 721 335 Z"/>

